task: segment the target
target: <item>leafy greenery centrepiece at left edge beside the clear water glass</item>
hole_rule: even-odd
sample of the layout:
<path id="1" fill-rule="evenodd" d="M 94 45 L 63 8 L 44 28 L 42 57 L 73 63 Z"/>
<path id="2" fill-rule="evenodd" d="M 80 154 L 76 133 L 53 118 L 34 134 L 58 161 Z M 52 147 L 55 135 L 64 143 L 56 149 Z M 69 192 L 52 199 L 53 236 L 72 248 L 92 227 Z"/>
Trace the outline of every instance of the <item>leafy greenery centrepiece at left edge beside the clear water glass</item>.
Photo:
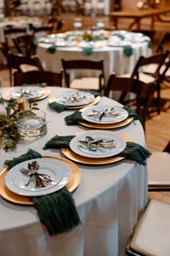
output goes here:
<path id="1" fill-rule="evenodd" d="M 30 103 L 30 109 L 37 108 L 36 102 Z M 6 107 L 6 113 L 0 111 L 0 148 L 6 152 L 8 150 L 16 150 L 17 143 L 22 139 L 17 131 L 17 113 L 20 110 L 17 109 L 17 100 L 10 100 Z"/>

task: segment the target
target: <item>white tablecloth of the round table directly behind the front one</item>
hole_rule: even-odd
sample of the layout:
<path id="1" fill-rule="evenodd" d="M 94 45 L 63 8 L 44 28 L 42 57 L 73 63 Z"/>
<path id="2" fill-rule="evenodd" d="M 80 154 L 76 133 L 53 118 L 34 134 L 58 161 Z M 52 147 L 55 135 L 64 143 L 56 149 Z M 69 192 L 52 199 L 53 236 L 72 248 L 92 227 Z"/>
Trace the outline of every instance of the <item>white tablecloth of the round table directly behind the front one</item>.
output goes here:
<path id="1" fill-rule="evenodd" d="M 149 40 L 149 38 L 148 38 Z M 102 44 L 102 41 L 101 41 Z M 89 59 L 93 61 L 104 60 L 104 76 L 105 80 L 109 78 L 109 74 L 115 72 L 117 75 L 133 72 L 136 62 L 140 56 L 151 56 L 151 48 L 148 42 L 132 43 L 133 54 L 126 56 L 124 49 L 120 46 L 113 47 L 104 45 L 103 47 L 94 47 L 91 56 L 84 56 L 82 48 L 77 46 L 58 47 L 55 53 L 49 54 L 46 52 L 50 47 L 50 43 L 38 43 L 37 55 L 42 62 L 42 66 L 52 72 L 60 72 L 62 68 L 61 59 Z M 87 70 L 86 70 L 87 74 Z M 80 74 L 79 74 L 80 75 Z M 95 73 L 89 72 L 89 76 Z M 77 74 L 76 74 L 77 76 Z"/>

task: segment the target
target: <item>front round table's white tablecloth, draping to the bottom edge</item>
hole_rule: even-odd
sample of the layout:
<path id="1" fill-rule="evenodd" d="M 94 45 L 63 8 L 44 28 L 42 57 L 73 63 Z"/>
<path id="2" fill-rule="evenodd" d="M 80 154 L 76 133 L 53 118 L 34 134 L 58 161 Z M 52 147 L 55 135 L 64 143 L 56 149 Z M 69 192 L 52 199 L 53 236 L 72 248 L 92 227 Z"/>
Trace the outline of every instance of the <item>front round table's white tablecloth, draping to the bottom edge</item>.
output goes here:
<path id="1" fill-rule="evenodd" d="M 66 88 L 50 88 L 50 95 Z M 98 103 L 120 106 L 102 97 Z M 29 148 L 42 155 L 66 158 L 61 150 L 42 150 L 54 135 L 73 135 L 86 131 L 81 125 L 66 126 L 64 117 L 73 110 L 58 114 L 48 107 L 48 98 L 38 101 L 47 114 L 48 133 L 30 144 L 19 145 L 15 152 L 0 151 L 0 166 Z M 2 108 L 2 105 L 0 105 Z M 140 121 L 115 129 L 131 141 L 145 146 Z M 77 163 L 81 171 L 79 187 L 73 192 L 82 225 L 67 234 L 48 236 L 34 207 L 17 205 L 0 197 L 0 248 L 3 256 L 117 256 L 125 255 L 128 238 L 148 200 L 147 168 L 124 159 L 117 163 L 91 166 Z"/>

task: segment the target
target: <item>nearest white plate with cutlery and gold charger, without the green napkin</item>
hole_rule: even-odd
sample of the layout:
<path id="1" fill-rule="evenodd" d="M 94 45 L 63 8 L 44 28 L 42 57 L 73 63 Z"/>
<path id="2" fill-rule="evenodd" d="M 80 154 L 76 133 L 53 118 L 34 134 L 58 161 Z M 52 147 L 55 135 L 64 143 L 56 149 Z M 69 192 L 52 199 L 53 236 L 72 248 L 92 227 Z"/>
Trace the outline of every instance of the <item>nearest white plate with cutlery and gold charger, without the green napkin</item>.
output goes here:
<path id="1" fill-rule="evenodd" d="M 56 156 L 42 156 L 4 168 L 0 174 L 0 193 L 17 204 L 33 205 L 30 197 L 48 195 L 66 187 L 79 186 L 81 172 L 75 163 Z"/>

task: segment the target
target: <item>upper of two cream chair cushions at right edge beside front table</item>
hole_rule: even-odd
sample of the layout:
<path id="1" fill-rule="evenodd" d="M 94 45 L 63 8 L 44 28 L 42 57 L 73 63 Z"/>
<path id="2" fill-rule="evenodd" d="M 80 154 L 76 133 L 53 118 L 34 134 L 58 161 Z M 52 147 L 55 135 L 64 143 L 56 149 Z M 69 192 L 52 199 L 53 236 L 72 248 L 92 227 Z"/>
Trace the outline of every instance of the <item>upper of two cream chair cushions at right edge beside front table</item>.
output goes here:
<path id="1" fill-rule="evenodd" d="M 170 186 L 170 154 L 155 152 L 148 158 L 148 185 Z"/>

